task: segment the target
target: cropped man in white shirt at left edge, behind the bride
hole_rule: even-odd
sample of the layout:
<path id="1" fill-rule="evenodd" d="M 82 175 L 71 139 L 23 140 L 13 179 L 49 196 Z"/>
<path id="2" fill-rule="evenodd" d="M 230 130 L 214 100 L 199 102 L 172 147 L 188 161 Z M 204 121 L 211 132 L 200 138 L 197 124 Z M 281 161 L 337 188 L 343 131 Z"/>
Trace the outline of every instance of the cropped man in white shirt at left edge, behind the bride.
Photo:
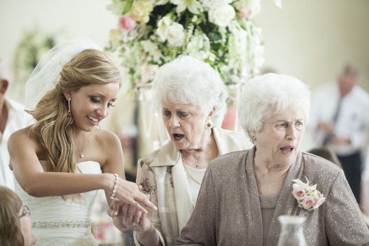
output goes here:
<path id="1" fill-rule="evenodd" d="M 24 111 L 22 104 L 5 96 L 8 87 L 9 72 L 0 58 L 0 186 L 14 190 L 7 142 L 10 134 L 29 125 L 32 117 Z"/>

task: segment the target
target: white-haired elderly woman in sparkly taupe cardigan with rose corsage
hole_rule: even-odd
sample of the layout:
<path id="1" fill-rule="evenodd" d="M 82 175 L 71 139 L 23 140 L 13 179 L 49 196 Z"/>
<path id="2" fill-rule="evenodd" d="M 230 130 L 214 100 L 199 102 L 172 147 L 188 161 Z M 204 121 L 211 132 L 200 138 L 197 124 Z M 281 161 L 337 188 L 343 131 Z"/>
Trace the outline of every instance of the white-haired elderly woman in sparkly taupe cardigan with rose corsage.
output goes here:
<path id="1" fill-rule="evenodd" d="M 299 150 L 309 121 L 308 87 L 292 76 L 255 77 L 241 92 L 238 111 L 255 146 L 210 163 L 177 245 L 277 245 L 280 215 L 306 218 L 306 245 L 369 245 L 342 170 Z"/>

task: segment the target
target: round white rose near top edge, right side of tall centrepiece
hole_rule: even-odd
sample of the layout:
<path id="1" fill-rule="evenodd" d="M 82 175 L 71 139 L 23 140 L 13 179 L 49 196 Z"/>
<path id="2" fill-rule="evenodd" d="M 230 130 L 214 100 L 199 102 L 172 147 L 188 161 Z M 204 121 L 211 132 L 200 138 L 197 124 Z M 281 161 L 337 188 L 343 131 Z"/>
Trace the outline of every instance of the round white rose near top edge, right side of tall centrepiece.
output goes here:
<path id="1" fill-rule="evenodd" d="M 220 5 L 209 10 L 209 22 L 219 27 L 227 27 L 235 16 L 236 11 L 229 4 Z"/>

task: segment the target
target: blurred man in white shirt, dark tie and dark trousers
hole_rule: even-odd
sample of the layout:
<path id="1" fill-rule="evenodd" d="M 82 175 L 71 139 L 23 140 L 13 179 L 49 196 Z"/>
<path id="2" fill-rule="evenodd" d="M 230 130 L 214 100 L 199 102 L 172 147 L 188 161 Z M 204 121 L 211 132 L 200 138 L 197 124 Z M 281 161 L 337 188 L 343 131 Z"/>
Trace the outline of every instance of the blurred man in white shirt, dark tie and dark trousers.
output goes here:
<path id="1" fill-rule="evenodd" d="M 369 94 L 357 85 L 358 71 L 347 65 L 337 83 L 312 96 L 311 127 L 319 146 L 338 156 L 357 202 L 360 202 L 362 151 L 367 148 Z"/>

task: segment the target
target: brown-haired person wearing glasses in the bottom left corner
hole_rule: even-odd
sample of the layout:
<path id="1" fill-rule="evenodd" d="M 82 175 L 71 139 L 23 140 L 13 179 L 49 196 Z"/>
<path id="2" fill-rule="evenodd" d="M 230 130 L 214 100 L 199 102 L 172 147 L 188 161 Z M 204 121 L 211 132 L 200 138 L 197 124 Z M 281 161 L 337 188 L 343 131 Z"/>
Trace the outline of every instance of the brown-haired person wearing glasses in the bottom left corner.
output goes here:
<path id="1" fill-rule="evenodd" d="M 36 242 L 31 231 L 30 214 L 17 194 L 0 186 L 0 245 L 30 246 Z"/>

